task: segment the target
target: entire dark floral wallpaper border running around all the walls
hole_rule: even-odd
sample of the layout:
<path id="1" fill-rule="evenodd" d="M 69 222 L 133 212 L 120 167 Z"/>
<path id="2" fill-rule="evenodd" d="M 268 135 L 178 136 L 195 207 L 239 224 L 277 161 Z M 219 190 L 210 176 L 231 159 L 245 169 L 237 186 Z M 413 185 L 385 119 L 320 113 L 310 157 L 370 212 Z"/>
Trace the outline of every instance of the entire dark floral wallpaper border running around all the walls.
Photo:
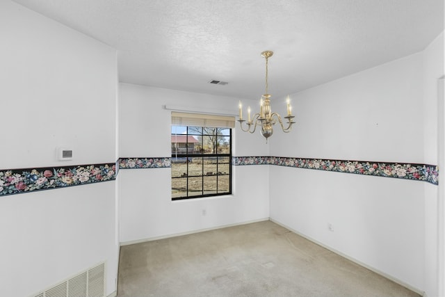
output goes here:
<path id="1" fill-rule="evenodd" d="M 307 159 L 282 156 L 232 156 L 232 165 L 275 165 L 333 172 L 394 177 L 439 184 L 435 165 L 417 163 L 391 163 L 377 161 L 347 161 Z M 0 170 L 0 196 L 33 191 L 107 182 L 118 175 L 119 169 L 170 168 L 170 157 L 120 158 L 115 163 Z"/>

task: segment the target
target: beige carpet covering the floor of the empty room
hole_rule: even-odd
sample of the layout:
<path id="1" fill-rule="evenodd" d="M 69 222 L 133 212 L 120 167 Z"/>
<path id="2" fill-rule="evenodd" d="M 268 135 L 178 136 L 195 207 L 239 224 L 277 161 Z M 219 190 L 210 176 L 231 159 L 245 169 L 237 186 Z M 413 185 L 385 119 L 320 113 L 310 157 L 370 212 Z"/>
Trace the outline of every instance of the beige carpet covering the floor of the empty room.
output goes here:
<path id="1" fill-rule="evenodd" d="M 264 221 L 123 246 L 118 297 L 417 296 Z"/>

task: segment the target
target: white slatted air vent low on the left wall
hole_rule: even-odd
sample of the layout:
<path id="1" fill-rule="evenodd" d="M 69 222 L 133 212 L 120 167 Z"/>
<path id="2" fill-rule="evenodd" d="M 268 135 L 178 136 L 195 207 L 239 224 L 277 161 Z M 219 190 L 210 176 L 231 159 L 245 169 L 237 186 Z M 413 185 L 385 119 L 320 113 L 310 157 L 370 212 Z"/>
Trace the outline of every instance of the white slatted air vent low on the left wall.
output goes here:
<path id="1" fill-rule="evenodd" d="M 105 263 L 83 271 L 33 297 L 104 297 Z"/>

